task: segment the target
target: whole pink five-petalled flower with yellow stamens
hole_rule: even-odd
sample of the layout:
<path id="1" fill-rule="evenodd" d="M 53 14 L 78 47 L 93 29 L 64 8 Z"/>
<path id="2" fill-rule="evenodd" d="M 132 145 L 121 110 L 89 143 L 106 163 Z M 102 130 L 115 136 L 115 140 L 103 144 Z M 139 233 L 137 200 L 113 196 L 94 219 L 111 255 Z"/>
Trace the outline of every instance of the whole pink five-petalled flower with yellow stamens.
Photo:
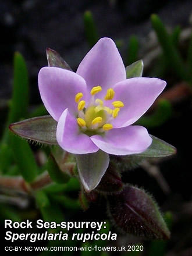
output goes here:
<path id="1" fill-rule="evenodd" d="M 78 155 L 99 149 L 129 155 L 150 146 L 147 130 L 132 124 L 150 108 L 166 82 L 146 77 L 126 79 L 115 43 L 101 38 L 76 73 L 43 67 L 38 85 L 45 108 L 58 122 L 56 138 L 63 150 Z M 107 166 L 105 161 L 105 170 Z"/>

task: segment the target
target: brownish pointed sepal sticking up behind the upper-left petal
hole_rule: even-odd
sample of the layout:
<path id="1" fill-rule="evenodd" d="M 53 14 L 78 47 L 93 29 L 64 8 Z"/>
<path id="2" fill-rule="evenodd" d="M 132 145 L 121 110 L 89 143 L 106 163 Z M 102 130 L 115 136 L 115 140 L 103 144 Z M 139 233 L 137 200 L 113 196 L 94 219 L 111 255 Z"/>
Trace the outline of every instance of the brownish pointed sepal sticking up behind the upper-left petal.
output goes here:
<path id="1" fill-rule="evenodd" d="M 47 48 L 46 53 L 49 67 L 61 67 L 62 69 L 72 71 L 70 66 L 63 60 L 58 52 L 54 51 L 53 49 Z"/>

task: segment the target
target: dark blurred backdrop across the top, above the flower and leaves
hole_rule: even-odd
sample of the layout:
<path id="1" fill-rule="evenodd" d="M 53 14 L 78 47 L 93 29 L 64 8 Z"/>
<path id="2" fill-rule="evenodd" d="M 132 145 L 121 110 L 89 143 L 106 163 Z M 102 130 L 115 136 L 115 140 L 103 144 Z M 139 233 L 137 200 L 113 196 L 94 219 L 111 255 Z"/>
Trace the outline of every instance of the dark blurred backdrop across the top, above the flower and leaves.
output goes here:
<path id="1" fill-rule="evenodd" d="M 38 70 L 47 65 L 47 47 L 58 51 L 76 70 L 89 49 L 83 25 L 86 10 L 93 13 L 101 37 L 124 41 L 123 56 L 130 35 L 137 35 L 141 42 L 147 38 L 151 13 L 158 13 L 168 26 L 187 27 L 191 6 L 190 0 L 1 0 L 0 97 L 10 98 L 15 51 L 21 52 L 27 61 L 31 93 L 37 91 Z M 36 97 L 35 94 L 31 101 L 36 103 Z"/>

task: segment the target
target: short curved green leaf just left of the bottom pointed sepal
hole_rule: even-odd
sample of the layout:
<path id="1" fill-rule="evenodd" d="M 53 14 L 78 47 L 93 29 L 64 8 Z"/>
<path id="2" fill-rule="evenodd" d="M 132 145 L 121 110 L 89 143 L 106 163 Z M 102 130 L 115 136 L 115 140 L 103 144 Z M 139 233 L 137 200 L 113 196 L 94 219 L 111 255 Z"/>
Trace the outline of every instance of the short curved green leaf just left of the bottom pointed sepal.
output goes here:
<path id="1" fill-rule="evenodd" d="M 49 155 L 47 161 L 47 170 L 51 179 L 59 184 L 67 183 L 70 179 L 67 173 L 62 172 L 58 164 L 55 161 L 55 158 L 52 155 Z"/>

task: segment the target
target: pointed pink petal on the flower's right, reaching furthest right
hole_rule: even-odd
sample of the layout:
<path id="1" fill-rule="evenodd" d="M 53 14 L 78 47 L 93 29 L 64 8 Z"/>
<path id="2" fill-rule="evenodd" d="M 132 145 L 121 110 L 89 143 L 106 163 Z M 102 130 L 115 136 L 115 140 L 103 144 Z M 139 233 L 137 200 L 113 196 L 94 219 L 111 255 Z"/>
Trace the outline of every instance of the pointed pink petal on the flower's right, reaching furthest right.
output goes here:
<path id="1" fill-rule="evenodd" d="M 136 122 L 153 104 L 165 88 L 166 82 L 157 78 L 135 77 L 115 85 L 113 101 L 122 101 L 118 117 L 112 120 L 113 127 L 125 127 Z M 107 102 L 108 105 L 110 102 Z"/>

